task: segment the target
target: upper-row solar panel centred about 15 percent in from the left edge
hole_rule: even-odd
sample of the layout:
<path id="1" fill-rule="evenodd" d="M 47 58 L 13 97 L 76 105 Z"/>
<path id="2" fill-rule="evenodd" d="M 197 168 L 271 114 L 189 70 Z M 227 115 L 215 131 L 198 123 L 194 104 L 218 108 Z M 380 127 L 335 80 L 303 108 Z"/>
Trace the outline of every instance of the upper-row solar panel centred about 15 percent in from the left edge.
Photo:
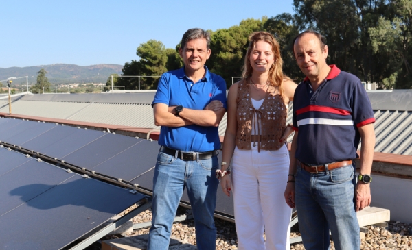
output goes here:
<path id="1" fill-rule="evenodd" d="M 103 132 L 95 130 L 58 125 L 23 143 L 21 147 L 60 159 L 104 135 Z"/>

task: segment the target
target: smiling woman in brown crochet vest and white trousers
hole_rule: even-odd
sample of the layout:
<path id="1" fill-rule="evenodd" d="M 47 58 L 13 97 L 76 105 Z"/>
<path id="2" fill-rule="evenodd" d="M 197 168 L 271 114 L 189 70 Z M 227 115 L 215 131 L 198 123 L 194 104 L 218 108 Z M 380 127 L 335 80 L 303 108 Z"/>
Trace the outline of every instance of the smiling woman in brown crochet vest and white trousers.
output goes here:
<path id="1" fill-rule="evenodd" d="M 289 168 L 285 141 L 292 132 L 286 116 L 295 88 L 282 73 L 275 38 L 268 32 L 253 32 L 242 80 L 229 89 L 218 172 L 223 192 L 228 196 L 233 192 L 240 250 L 290 249 L 292 210 L 284 202 Z"/>

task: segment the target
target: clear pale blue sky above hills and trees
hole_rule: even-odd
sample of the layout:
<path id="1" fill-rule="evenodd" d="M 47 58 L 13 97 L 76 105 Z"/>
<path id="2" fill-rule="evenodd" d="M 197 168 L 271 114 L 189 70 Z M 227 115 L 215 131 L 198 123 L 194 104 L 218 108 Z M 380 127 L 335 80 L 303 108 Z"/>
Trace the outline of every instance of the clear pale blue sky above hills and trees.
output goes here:
<path id="1" fill-rule="evenodd" d="M 124 65 L 155 39 L 175 48 L 187 29 L 225 29 L 247 18 L 293 13 L 293 0 L 2 1 L 0 68 Z M 213 53 L 213 51 L 212 51 Z"/>

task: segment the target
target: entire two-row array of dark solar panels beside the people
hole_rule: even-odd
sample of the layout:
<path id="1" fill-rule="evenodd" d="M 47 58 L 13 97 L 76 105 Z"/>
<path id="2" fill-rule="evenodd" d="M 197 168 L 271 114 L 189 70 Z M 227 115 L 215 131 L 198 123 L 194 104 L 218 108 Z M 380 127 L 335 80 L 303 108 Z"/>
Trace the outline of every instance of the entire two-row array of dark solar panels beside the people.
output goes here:
<path id="1" fill-rule="evenodd" d="M 80 129 L 55 123 L 13 118 L 0 118 L 0 141 L 3 145 L 21 152 L 31 153 L 36 158 L 52 160 L 52 162 L 59 164 L 63 168 L 72 167 L 80 172 L 89 174 L 89 176 L 101 177 L 102 179 L 116 182 L 119 185 L 135 188 L 146 194 L 151 194 L 152 192 L 152 178 L 155 171 L 157 153 L 159 153 L 159 145 L 156 141 L 90 129 Z M 5 153 L 8 157 L 3 158 L 1 153 Z M 10 155 L 19 155 L 19 157 Z M 66 223 L 73 224 L 74 221 L 71 216 L 76 216 L 80 220 L 78 221 L 80 226 L 76 226 L 76 230 L 71 230 L 76 231 L 77 237 L 77 234 L 85 234 L 92 228 L 87 227 L 87 222 L 96 215 L 92 215 L 92 217 L 87 216 L 87 221 L 82 221 L 86 218 L 84 216 L 87 215 L 87 211 L 107 209 L 108 211 L 100 211 L 102 216 L 107 214 L 107 216 L 103 216 L 98 221 L 98 223 L 102 223 L 113 216 L 115 214 L 113 211 L 116 209 L 117 212 L 121 212 L 122 209 L 127 208 L 126 204 L 130 205 L 137 202 L 137 197 L 130 195 L 125 189 L 91 178 L 84 179 L 81 175 L 67 173 L 63 168 L 45 162 L 37 162 L 34 158 L 26 158 L 22 153 L 1 149 L 0 157 L 1 159 L 7 159 L 7 162 L 1 164 L 0 169 L 8 175 L 8 177 L 4 177 L 6 179 L 5 182 L 1 182 L 0 179 L 0 198 L 3 198 L 2 195 L 4 195 L 7 200 L 10 199 L 7 205 L 0 205 L 0 227 L 1 225 L 6 225 L 3 223 L 12 223 L 13 220 L 21 221 L 21 227 L 15 227 L 20 230 L 20 235 L 23 228 L 30 228 L 27 227 L 26 221 L 30 218 L 36 219 L 50 216 L 46 221 L 55 223 L 56 218 L 61 216 L 64 217 L 62 218 L 62 225 L 66 225 Z M 37 169 L 32 167 L 32 164 L 43 167 L 41 171 L 32 173 L 34 169 Z M 0 178 L 3 175 L 5 176 L 4 173 L 0 173 Z M 49 180 L 47 177 L 51 179 Z M 19 186 L 22 183 L 25 185 Z M 89 183 L 93 183 L 93 185 Z M 3 185 L 8 188 L 1 189 Z M 106 188 L 106 191 L 100 187 L 102 185 L 110 188 Z M 116 192 L 119 192 L 119 194 Z M 62 196 L 61 198 L 59 198 L 60 195 Z M 76 198 L 80 200 L 76 200 Z M 119 199 L 119 201 L 113 201 L 113 199 Z M 2 201 L 4 200 L 2 199 Z M 50 203 L 49 201 L 55 201 L 55 203 Z M 186 192 L 183 194 L 181 202 L 187 206 L 190 205 Z M 226 197 L 221 188 L 218 188 L 216 204 L 217 216 L 233 219 L 233 198 Z M 113 208 L 112 210 L 113 206 L 116 209 Z M 78 208 L 82 209 L 79 210 Z M 19 212 L 20 210 L 22 212 Z M 80 218 L 79 214 L 84 214 L 84 216 Z M 44 232 L 34 230 L 32 234 L 29 234 L 30 232 L 25 233 L 33 238 L 44 238 L 43 236 L 48 234 L 47 230 L 56 227 L 53 227 L 51 224 L 47 225 L 41 219 L 39 219 L 38 223 L 44 224 Z M 34 225 L 38 223 L 34 223 Z M 95 222 L 95 224 L 98 223 Z M 26 224 L 26 226 L 23 226 L 23 224 Z M 65 230 L 65 226 L 58 227 L 62 227 L 62 234 L 67 234 L 65 231 L 69 229 Z M 84 228 L 86 232 L 77 230 L 80 227 Z M 7 236 L 0 236 L 0 249 L 8 249 L 7 247 L 1 247 L 1 244 L 6 242 L 3 241 L 5 238 Z M 58 238 L 61 238 L 60 234 Z M 32 238 L 28 239 L 27 242 L 32 242 Z M 10 244 L 23 243 L 19 240 L 19 242 L 12 242 Z M 39 249 L 59 249 L 61 247 L 54 246 L 50 248 L 45 247 L 45 245 L 39 245 Z M 30 249 L 36 249 L 36 247 L 30 247 Z"/>

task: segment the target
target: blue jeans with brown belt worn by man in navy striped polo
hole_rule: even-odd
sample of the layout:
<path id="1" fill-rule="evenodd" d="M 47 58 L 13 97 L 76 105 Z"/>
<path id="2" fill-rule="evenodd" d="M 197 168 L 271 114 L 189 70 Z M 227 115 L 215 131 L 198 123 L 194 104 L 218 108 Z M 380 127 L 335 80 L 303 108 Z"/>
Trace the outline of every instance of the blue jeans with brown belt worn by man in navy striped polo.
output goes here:
<path id="1" fill-rule="evenodd" d="M 295 205 L 306 250 L 358 250 L 360 229 L 355 212 L 354 165 L 309 173 L 297 166 Z"/>

